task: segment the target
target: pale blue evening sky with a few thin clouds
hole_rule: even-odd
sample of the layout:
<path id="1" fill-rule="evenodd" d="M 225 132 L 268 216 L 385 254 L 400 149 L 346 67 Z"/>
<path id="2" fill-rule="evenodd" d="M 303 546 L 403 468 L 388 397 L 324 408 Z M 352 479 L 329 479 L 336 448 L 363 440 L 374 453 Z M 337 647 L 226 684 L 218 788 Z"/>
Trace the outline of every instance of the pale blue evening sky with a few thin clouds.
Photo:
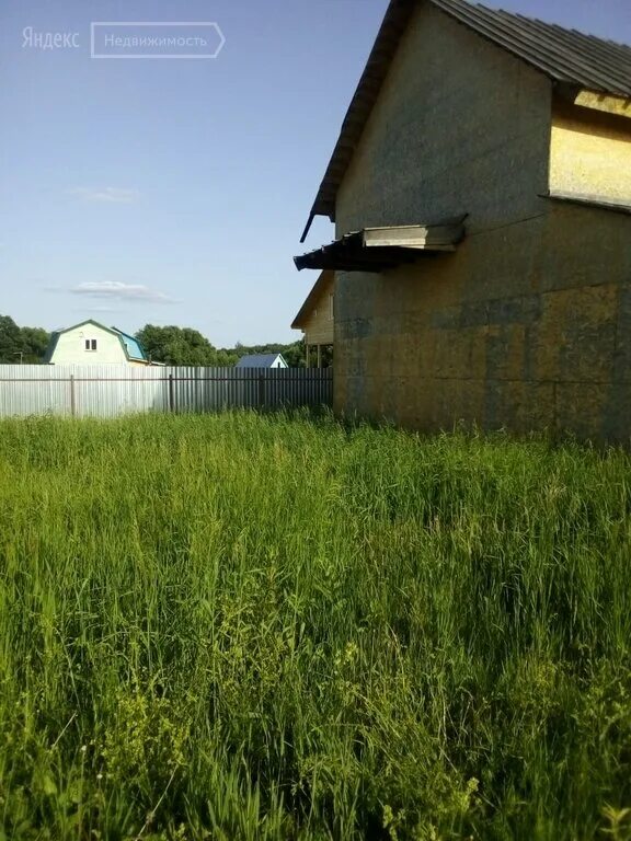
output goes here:
<path id="1" fill-rule="evenodd" d="M 387 4 L 0 0 L 0 314 L 298 338 L 316 274 L 292 256 L 333 238 L 317 219 L 299 242 Z M 631 44 L 631 0 L 486 4 Z M 92 49 L 93 22 L 127 25 L 96 27 Z M 145 34 L 217 56 L 91 56 Z"/>

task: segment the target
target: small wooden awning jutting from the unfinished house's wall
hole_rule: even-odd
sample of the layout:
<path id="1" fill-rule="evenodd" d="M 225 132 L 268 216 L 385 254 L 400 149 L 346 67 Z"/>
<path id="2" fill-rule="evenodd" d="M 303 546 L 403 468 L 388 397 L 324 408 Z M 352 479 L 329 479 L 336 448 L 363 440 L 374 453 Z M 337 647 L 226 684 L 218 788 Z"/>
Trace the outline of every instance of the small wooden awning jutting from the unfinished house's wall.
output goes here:
<path id="1" fill-rule="evenodd" d="M 385 272 L 413 263 L 424 254 L 456 251 L 464 237 L 464 219 L 466 216 L 461 216 L 437 224 L 364 228 L 330 245 L 294 257 L 294 263 L 298 270 Z"/>

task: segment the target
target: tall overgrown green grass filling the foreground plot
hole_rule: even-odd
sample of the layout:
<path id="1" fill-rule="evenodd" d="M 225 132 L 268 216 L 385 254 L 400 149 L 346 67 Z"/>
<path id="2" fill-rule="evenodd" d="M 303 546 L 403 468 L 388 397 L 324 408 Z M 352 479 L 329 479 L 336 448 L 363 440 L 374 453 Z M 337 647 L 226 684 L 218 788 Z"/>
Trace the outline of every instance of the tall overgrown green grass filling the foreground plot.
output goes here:
<path id="1" fill-rule="evenodd" d="M 0 838 L 631 838 L 631 460 L 0 423 Z"/>

